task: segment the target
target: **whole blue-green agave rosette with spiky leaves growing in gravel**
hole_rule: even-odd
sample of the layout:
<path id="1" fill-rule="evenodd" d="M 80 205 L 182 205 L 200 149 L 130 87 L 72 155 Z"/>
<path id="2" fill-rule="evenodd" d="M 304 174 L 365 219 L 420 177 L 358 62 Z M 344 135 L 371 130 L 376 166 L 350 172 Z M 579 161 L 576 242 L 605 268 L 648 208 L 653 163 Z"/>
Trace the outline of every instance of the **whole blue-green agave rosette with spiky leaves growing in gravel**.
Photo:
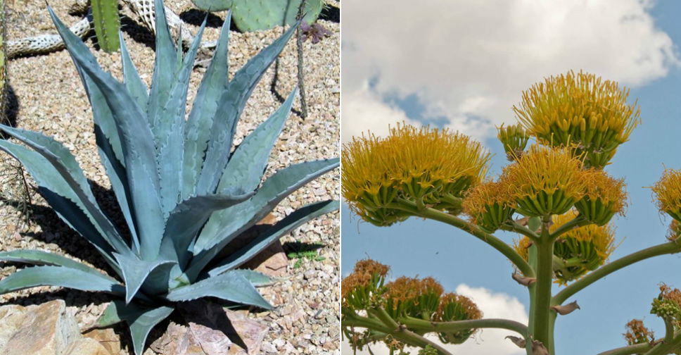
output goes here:
<path id="1" fill-rule="evenodd" d="M 261 185 L 295 90 L 230 154 L 246 100 L 295 26 L 229 80 L 228 15 L 185 119 L 189 74 L 205 21 L 183 56 L 182 46 L 176 47 L 170 37 L 162 0 L 155 0 L 155 8 L 157 54 L 149 92 L 122 37 L 124 82 L 118 82 L 101 70 L 87 46 L 49 8 L 89 97 L 98 152 L 129 233 L 103 213 L 74 156 L 61 143 L 37 132 L 0 126 L 23 143 L 0 140 L 0 149 L 23 163 L 58 216 L 94 245 L 117 276 L 45 251 L 7 251 L 0 253 L 0 261 L 37 266 L 1 280 L 0 293 L 52 285 L 114 294 L 120 300 L 110 304 L 99 325 L 126 321 L 136 354 L 144 350 L 151 328 L 170 316 L 179 301 L 217 297 L 269 309 L 255 289 L 269 279 L 237 268 L 298 225 L 338 209 L 338 201 L 304 206 L 246 246 L 220 254 L 288 194 L 336 168 L 339 160 L 288 166 Z"/>

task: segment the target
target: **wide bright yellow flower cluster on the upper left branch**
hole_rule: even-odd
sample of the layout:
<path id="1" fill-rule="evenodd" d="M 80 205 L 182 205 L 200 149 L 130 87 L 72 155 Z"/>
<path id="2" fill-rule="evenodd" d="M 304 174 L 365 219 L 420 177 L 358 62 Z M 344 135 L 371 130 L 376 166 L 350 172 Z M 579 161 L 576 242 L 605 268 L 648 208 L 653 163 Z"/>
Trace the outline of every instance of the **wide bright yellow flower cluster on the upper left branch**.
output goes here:
<path id="1" fill-rule="evenodd" d="M 362 136 L 343 146 L 343 197 L 359 216 L 383 225 L 407 217 L 386 208 L 397 197 L 458 213 L 460 206 L 443 198 L 462 197 L 478 184 L 489 158 L 465 135 L 397 125 L 384 139 Z"/>

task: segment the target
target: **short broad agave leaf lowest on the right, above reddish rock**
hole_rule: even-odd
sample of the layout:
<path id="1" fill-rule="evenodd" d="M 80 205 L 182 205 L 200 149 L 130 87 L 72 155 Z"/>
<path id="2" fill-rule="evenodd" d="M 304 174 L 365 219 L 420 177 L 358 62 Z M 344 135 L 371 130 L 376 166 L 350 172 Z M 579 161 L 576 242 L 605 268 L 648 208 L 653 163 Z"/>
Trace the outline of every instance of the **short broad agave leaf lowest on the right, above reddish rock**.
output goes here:
<path id="1" fill-rule="evenodd" d="M 191 301 L 201 297 L 217 297 L 240 304 L 251 304 L 262 309 L 272 309 L 253 284 L 238 273 L 224 273 L 215 278 L 179 287 L 168 292 L 166 296 L 169 301 Z"/>

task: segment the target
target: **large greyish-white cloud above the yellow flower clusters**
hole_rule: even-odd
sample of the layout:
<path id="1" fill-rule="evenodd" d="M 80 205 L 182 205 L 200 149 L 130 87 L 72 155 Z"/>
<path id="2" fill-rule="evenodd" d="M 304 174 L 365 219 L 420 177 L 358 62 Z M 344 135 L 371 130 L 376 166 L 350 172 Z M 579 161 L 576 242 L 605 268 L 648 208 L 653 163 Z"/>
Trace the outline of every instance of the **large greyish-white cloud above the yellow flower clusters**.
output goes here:
<path id="1" fill-rule="evenodd" d="M 514 123 L 511 106 L 543 77 L 583 69 L 630 87 L 663 77 L 680 61 L 650 7 L 640 0 L 346 1 L 343 140 L 404 119 L 383 102 L 387 94 L 416 94 L 427 117 L 487 137 L 494 125 Z M 370 89 L 367 80 L 375 80 Z"/>

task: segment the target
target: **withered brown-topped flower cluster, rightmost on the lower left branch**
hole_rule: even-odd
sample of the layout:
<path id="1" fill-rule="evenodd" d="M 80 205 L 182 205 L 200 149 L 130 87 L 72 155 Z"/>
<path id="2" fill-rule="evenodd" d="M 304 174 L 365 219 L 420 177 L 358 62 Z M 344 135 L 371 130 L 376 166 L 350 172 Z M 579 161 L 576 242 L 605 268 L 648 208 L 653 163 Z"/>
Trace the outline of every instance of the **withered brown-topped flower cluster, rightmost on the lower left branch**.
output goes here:
<path id="1" fill-rule="evenodd" d="M 455 320 L 470 320 L 483 318 L 483 312 L 471 299 L 461 294 L 446 293 L 440 297 L 440 307 L 435 314 L 438 322 Z M 476 332 L 477 329 L 459 330 L 457 332 L 440 332 L 438 337 L 445 344 L 462 344 Z"/>

